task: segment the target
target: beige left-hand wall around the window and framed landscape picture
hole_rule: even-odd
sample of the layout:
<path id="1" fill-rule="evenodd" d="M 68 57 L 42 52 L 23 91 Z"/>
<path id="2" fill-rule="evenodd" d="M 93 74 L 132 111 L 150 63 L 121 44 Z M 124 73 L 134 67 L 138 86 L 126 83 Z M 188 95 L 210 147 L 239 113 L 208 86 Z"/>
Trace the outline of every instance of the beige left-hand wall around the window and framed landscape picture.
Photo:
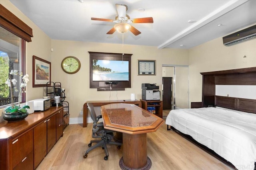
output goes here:
<path id="1" fill-rule="evenodd" d="M 43 88 L 32 88 L 32 56 L 36 55 L 37 57 L 51 62 L 51 39 L 10 1 L 1 0 L 0 4 L 33 29 L 34 37 L 32 37 L 32 42 L 26 43 L 26 73 L 29 74 L 30 80 L 26 89 L 26 100 L 29 101 L 36 98 L 42 98 Z M 2 110 L 3 109 L 0 109 L 0 122 L 3 121 Z"/>

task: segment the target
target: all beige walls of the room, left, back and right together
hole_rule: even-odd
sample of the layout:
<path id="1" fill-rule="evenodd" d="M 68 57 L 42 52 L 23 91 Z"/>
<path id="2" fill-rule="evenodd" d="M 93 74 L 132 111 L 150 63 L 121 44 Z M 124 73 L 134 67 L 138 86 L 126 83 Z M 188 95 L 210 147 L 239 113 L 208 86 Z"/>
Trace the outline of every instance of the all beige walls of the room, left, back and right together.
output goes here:
<path id="1" fill-rule="evenodd" d="M 8 0 L 1 0 L 0 4 L 33 29 L 32 42 L 26 43 L 26 73 L 30 76 L 26 99 L 33 100 L 44 95 L 45 88 L 32 88 L 32 56 L 36 55 L 51 62 L 52 81 L 61 82 L 62 87 L 66 89 L 66 101 L 70 103 L 71 118 L 82 117 L 80 111 L 84 102 L 88 100 L 126 100 L 130 99 L 131 93 L 135 93 L 136 99 L 139 100 L 142 83 L 156 83 L 162 88 L 162 64 L 189 64 L 190 102 L 202 100 L 202 76 L 200 72 L 256 66 L 256 39 L 225 47 L 222 43 L 222 37 L 220 37 L 190 50 L 157 49 L 157 47 L 136 45 L 124 45 L 122 48 L 121 44 L 51 40 Z M 51 48 L 54 51 L 51 52 Z M 90 89 L 88 51 L 133 54 L 132 88 L 112 92 L 98 92 L 96 89 Z M 81 69 L 76 74 L 66 74 L 61 69 L 62 59 L 69 55 L 77 57 L 81 62 Z M 247 57 L 244 58 L 244 55 Z M 138 76 L 138 59 L 156 60 L 156 76 Z"/>

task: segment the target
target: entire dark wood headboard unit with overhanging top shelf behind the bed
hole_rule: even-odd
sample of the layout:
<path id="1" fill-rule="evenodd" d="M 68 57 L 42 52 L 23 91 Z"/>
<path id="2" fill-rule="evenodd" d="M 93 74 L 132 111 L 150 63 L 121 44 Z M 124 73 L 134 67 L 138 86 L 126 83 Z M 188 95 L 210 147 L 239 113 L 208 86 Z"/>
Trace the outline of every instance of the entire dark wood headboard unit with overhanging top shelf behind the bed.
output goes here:
<path id="1" fill-rule="evenodd" d="M 256 113 L 256 100 L 215 96 L 215 85 L 256 85 L 256 67 L 202 74 L 202 107 L 219 106 Z"/>

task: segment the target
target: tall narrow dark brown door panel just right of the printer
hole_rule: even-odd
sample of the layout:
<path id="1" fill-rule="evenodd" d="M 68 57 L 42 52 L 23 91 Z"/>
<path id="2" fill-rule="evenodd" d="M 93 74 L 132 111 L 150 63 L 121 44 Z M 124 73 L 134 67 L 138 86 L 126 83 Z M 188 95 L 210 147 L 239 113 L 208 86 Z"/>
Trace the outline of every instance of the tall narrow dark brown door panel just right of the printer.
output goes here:
<path id="1" fill-rule="evenodd" d="M 172 109 L 172 77 L 163 77 L 163 109 Z"/>

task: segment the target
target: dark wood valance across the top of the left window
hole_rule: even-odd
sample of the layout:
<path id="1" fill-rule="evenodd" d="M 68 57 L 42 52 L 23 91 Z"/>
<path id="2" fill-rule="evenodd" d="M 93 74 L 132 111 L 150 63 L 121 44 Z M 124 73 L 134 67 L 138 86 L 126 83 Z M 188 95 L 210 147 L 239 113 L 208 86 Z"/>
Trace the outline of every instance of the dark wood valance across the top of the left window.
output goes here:
<path id="1" fill-rule="evenodd" d="M 2 4 L 0 4 L 0 11 L 0 26 L 27 42 L 31 42 L 31 37 L 33 37 L 32 28 L 12 14 Z"/>

